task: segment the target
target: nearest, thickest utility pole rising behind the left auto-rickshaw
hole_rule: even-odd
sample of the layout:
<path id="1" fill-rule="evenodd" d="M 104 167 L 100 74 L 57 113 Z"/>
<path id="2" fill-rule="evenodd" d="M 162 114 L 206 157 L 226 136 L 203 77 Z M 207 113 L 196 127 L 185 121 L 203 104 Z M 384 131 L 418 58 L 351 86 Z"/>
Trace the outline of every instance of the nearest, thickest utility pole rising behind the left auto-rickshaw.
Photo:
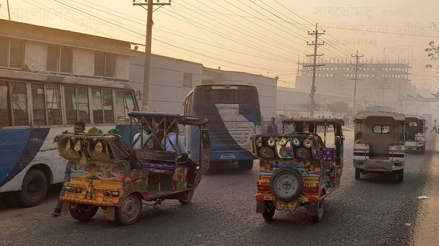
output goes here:
<path id="1" fill-rule="evenodd" d="M 133 0 L 133 5 L 148 6 L 148 16 L 146 23 L 146 40 L 145 40 L 145 63 L 144 63 L 144 77 L 143 77 L 143 100 L 142 100 L 142 111 L 148 112 L 149 110 L 149 78 L 150 78 L 150 69 L 151 69 L 151 36 L 152 36 L 152 6 L 159 5 L 162 7 L 163 5 L 171 5 L 171 1 L 169 3 L 153 3 L 153 0 L 145 0 L 145 4 L 136 3 Z"/>

